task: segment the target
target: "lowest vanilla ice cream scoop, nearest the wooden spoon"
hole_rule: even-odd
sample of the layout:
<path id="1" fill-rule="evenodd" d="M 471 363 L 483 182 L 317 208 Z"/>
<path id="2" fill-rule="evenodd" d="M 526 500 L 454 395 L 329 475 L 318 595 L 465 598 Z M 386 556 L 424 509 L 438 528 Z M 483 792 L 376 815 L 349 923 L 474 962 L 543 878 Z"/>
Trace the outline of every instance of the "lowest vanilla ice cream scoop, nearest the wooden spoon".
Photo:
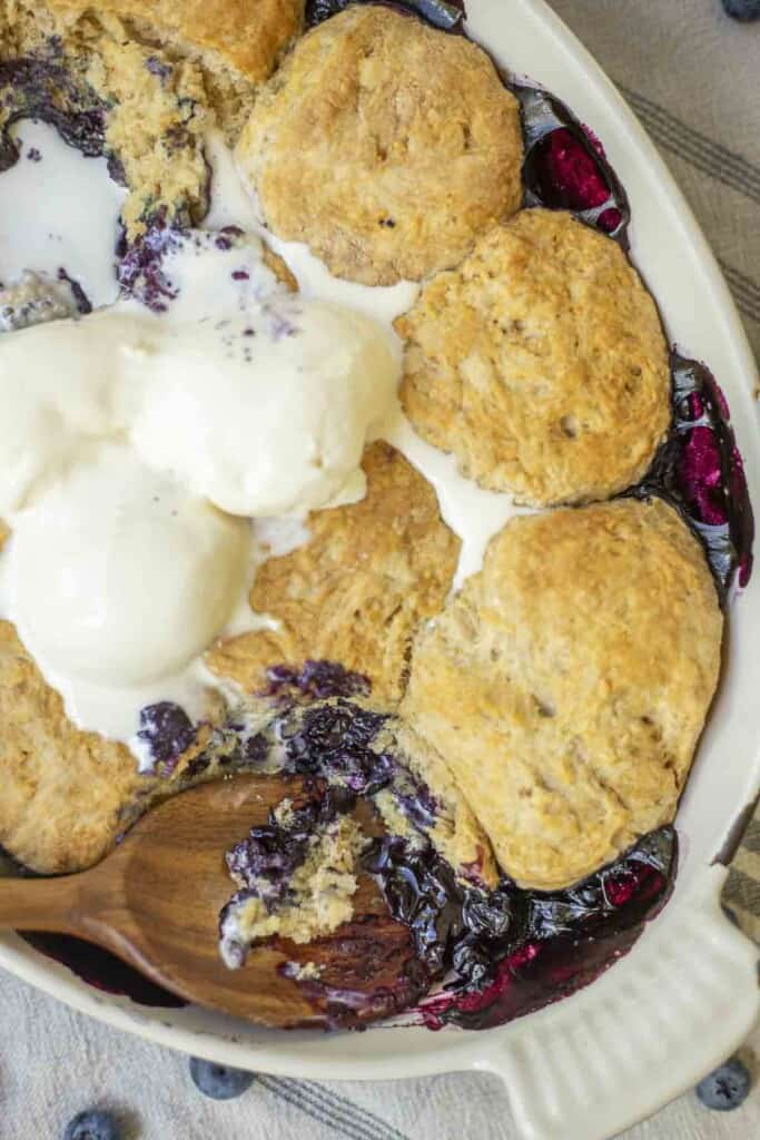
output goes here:
<path id="1" fill-rule="evenodd" d="M 182 669 L 246 587 L 251 527 L 101 445 L 19 512 L 5 593 L 46 674 L 137 685 Z"/>

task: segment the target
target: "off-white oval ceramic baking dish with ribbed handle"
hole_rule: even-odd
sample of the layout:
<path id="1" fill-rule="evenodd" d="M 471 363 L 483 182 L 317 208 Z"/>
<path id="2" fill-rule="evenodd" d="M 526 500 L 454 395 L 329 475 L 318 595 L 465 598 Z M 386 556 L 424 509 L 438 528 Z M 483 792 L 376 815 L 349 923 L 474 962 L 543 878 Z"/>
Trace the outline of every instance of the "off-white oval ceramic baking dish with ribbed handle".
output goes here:
<path id="1" fill-rule="evenodd" d="M 604 141 L 632 206 L 632 255 L 672 341 L 705 360 L 728 398 L 750 492 L 760 505 L 760 438 L 750 347 L 726 283 L 671 176 L 613 84 L 544 0 L 468 0 L 468 31 L 506 67 L 564 99 Z M 173 1049 L 285 1076 L 499 1075 L 532 1140 L 606 1140 L 692 1085 L 758 1018 L 757 952 L 722 915 L 725 863 L 760 789 L 760 570 L 736 601 L 720 693 L 678 815 L 672 901 L 594 985 L 499 1029 L 254 1029 L 196 1009 L 106 996 L 19 938 L 0 964 L 108 1024 Z"/>

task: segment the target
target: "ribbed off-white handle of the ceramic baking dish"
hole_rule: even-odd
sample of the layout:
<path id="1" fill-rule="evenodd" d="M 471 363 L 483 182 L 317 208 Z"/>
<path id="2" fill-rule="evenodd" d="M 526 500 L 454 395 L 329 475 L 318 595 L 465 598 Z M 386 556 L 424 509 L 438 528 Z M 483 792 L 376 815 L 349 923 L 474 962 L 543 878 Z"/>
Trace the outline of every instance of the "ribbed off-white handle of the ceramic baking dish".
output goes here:
<path id="1" fill-rule="evenodd" d="M 720 907 L 726 874 L 703 868 L 628 959 L 475 1061 L 504 1081 L 523 1140 L 610 1140 L 746 1039 L 760 1018 L 758 947 Z"/>

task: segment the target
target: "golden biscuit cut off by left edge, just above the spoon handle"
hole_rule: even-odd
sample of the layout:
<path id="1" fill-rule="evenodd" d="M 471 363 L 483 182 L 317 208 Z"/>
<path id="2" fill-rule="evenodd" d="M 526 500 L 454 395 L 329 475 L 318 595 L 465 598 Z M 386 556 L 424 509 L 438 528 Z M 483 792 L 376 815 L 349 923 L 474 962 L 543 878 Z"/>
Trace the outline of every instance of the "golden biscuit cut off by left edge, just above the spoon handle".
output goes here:
<path id="1" fill-rule="evenodd" d="M 139 781 L 129 749 L 66 719 L 0 621 L 0 844 L 35 871 L 88 866 L 113 844 Z"/>

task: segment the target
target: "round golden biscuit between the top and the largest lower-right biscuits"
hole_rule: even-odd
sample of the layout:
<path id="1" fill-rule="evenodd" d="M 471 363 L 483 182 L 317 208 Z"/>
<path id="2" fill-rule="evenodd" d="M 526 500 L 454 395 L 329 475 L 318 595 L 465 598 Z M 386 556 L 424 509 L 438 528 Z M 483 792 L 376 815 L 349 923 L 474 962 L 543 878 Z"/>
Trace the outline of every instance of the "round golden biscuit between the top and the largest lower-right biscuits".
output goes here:
<path id="1" fill-rule="evenodd" d="M 668 429 L 654 301 L 620 246 L 569 213 L 524 210 L 493 228 L 395 328 L 417 431 L 521 503 L 630 487 Z"/>

